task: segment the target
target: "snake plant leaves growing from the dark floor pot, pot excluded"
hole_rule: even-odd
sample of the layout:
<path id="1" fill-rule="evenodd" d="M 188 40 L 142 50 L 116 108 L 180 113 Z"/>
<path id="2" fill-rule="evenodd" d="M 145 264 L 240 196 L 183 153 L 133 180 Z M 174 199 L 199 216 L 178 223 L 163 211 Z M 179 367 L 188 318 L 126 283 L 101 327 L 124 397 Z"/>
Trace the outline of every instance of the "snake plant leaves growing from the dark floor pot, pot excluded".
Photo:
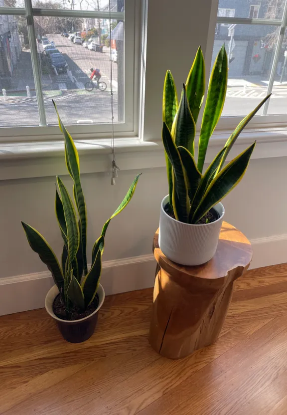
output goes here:
<path id="1" fill-rule="evenodd" d="M 69 310 L 73 306 L 85 310 L 94 301 L 101 276 L 102 254 L 108 225 L 111 219 L 119 214 L 132 199 L 140 175 L 135 178 L 121 205 L 104 224 L 102 233 L 93 246 L 92 265 L 88 270 L 86 254 L 87 212 L 80 181 L 78 151 L 59 117 L 55 103 L 54 106 L 60 130 L 64 135 L 66 166 L 73 180 L 73 199 L 76 206 L 75 209 L 65 185 L 57 177 L 55 213 L 64 241 L 61 264 L 45 238 L 32 226 L 24 222 L 21 223 L 31 248 L 51 271 L 54 282 L 65 302 L 69 317 Z"/>

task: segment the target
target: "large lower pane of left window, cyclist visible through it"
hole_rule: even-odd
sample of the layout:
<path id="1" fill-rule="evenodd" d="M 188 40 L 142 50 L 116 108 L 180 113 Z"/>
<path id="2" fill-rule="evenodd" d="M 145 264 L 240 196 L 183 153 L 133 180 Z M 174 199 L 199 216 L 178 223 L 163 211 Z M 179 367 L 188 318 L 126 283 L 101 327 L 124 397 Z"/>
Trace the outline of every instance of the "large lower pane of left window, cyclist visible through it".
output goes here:
<path id="1" fill-rule="evenodd" d="M 48 124 L 57 123 L 52 99 L 66 124 L 111 123 L 109 20 L 41 16 L 34 22 Z M 113 20 L 112 28 L 114 121 L 123 122 L 123 22 Z M 92 68 L 99 70 L 93 82 Z"/>

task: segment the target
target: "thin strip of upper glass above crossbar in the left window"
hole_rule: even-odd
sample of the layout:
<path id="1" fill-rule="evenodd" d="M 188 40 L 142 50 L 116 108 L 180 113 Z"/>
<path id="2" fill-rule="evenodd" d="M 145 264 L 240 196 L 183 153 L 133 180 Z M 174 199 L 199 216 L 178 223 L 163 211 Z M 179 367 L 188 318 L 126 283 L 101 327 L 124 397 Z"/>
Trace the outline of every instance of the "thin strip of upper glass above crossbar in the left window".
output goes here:
<path id="1" fill-rule="evenodd" d="M 124 11 L 124 3 L 124 0 L 111 0 L 111 11 Z M 109 0 L 32 0 L 32 6 L 37 8 L 109 11 Z"/>

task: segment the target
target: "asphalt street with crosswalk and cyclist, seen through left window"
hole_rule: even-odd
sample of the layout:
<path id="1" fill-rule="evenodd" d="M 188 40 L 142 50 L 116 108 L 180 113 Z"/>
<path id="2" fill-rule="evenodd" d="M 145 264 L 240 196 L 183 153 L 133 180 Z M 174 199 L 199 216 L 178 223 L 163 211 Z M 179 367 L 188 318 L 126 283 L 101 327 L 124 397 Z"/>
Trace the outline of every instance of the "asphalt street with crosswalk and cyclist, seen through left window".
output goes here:
<path id="1" fill-rule="evenodd" d="M 66 59 L 69 70 L 67 74 L 56 75 L 54 72 L 43 74 L 42 87 L 44 104 L 48 124 L 57 124 L 52 99 L 58 106 L 59 113 L 64 123 L 110 123 L 111 122 L 111 83 L 110 83 L 110 59 L 109 53 L 91 51 L 82 45 L 72 43 L 59 34 L 48 35 L 49 40 L 55 42 Z M 41 45 L 38 45 L 41 52 Z M 25 59 L 25 65 L 30 59 Z M 18 66 L 24 63 L 21 58 Z M 112 63 L 113 67 L 113 92 L 114 92 L 114 117 L 117 122 L 118 114 L 118 65 Z M 106 91 L 93 89 L 85 90 L 85 83 L 90 77 L 90 68 L 99 68 L 102 74 L 101 80 L 106 82 Z M 25 68 L 21 73 L 29 73 L 29 79 L 20 79 L 17 88 L 19 93 L 8 93 L 6 100 L 0 97 L 0 126 L 11 125 L 37 125 L 38 109 L 35 92 L 33 91 L 33 79 L 31 70 Z M 30 79 L 31 78 L 31 79 Z M 31 88 L 31 98 L 27 98 L 25 85 Z"/>

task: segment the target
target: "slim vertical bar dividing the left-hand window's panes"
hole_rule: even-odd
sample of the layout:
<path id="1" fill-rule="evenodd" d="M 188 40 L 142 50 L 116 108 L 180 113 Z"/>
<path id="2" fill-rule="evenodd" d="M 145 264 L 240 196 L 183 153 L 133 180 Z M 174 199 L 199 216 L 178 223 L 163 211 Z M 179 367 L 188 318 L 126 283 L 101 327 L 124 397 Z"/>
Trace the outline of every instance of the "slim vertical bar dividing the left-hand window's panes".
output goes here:
<path id="1" fill-rule="evenodd" d="M 46 113 L 45 113 L 45 108 L 44 108 L 43 92 L 42 92 L 42 86 L 41 86 L 41 72 L 40 72 L 39 61 L 38 61 L 38 50 L 37 50 L 37 44 L 36 44 L 36 34 L 35 34 L 34 20 L 33 20 L 33 15 L 32 15 L 31 0 L 25 0 L 25 8 L 26 8 L 28 37 L 29 37 L 30 51 L 31 51 L 32 69 L 33 69 L 37 104 L 38 104 L 39 117 L 40 117 L 40 125 L 44 126 L 44 125 L 47 125 L 47 122 L 46 122 Z"/>

